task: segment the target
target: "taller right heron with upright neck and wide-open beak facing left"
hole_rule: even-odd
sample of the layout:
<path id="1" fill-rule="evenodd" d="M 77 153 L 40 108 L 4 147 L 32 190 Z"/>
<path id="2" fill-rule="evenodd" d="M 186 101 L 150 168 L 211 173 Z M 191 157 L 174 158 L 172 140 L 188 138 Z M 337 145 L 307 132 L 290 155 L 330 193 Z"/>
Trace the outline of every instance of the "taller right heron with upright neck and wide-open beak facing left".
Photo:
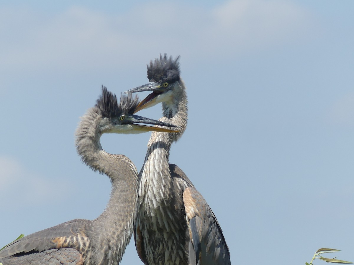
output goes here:
<path id="1" fill-rule="evenodd" d="M 179 57 L 160 55 L 148 65 L 149 83 L 129 92 L 153 91 L 136 111 L 162 102 L 160 120 L 178 126 L 178 133 L 153 132 L 139 173 L 136 248 L 144 264 L 230 264 L 220 225 L 203 196 L 176 165 L 170 147 L 187 126 L 185 85 Z M 186 155 L 193 155 L 192 150 Z M 192 158 L 192 157 L 191 157 Z"/>

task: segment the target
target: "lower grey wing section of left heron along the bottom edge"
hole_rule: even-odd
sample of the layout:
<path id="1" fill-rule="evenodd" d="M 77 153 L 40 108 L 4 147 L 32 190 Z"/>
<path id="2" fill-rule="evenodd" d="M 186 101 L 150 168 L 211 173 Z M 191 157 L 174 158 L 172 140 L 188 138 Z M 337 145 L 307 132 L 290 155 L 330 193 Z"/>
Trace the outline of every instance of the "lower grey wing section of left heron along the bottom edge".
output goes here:
<path id="1" fill-rule="evenodd" d="M 1 259 L 6 265 L 83 265 L 84 260 L 80 252 L 72 248 L 50 249 L 43 252 L 10 256 Z"/>

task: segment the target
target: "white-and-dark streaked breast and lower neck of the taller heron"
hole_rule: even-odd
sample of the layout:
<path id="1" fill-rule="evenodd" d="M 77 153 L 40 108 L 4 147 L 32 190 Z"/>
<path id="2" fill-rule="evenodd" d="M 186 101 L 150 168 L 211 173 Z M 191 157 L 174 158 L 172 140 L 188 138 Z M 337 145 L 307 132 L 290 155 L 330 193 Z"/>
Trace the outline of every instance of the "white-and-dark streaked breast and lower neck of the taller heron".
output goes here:
<path id="1" fill-rule="evenodd" d="M 188 259 L 182 194 L 191 183 L 178 168 L 180 174 L 171 172 L 171 142 L 168 135 L 152 135 L 140 175 L 137 231 L 142 241 L 137 236 L 136 242 L 145 250 L 147 264 L 186 264 Z M 165 177 L 171 173 L 173 177 Z"/>

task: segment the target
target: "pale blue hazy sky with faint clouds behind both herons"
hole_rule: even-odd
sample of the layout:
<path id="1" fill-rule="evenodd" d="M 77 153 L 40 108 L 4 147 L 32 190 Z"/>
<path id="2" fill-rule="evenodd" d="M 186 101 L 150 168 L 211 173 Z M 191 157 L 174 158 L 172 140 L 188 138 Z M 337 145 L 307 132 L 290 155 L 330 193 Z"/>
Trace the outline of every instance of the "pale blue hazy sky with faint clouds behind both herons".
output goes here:
<path id="1" fill-rule="evenodd" d="M 209 202 L 232 263 L 305 264 L 322 247 L 354 261 L 353 10 L 353 0 L 1 2 L 0 247 L 104 210 L 110 182 L 76 154 L 79 117 L 101 84 L 117 95 L 144 84 L 166 52 L 181 55 L 189 99 L 170 161 Z M 139 114 L 157 119 L 161 106 Z M 101 142 L 139 171 L 149 136 Z M 142 264 L 133 240 L 122 264 Z"/>

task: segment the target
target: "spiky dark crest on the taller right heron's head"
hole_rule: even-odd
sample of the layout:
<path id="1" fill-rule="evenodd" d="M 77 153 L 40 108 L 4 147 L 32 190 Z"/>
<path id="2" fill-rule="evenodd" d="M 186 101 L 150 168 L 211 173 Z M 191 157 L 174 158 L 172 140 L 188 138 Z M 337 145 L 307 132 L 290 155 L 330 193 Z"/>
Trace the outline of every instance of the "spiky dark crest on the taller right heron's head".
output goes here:
<path id="1" fill-rule="evenodd" d="M 148 79 L 149 82 L 175 82 L 180 79 L 179 77 L 179 55 L 175 60 L 167 58 L 167 54 L 165 53 L 164 57 L 162 57 L 160 53 L 160 60 L 155 59 L 154 61 L 150 61 L 150 65 L 148 66 Z"/>

